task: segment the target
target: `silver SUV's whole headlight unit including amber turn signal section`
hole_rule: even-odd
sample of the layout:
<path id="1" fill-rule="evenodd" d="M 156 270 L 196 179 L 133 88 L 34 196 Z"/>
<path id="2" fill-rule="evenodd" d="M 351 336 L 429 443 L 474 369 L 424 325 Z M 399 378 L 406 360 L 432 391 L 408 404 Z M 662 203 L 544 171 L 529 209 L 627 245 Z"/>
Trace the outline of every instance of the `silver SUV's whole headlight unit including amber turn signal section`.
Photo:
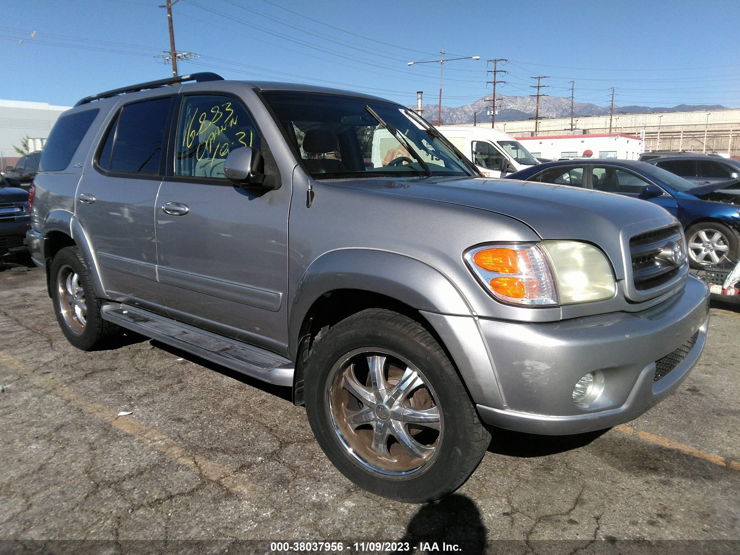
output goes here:
<path id="1" fill-rule="evenodd" d="M 494 297 L 525 306 L 586 303 L 614 296 L 605 255 L 578 241 L 492 244 L 465 252 L 465 260 Z"/>

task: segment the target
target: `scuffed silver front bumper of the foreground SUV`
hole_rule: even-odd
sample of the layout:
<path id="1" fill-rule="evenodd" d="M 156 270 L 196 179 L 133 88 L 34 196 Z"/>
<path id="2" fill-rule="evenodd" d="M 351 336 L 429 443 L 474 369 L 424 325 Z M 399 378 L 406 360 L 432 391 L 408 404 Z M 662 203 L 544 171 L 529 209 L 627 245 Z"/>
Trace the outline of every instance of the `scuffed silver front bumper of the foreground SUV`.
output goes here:
<path id="1" fill-rule="evenodd" d="M 707 286 L 689 275 L 679 295 L 644 312 L 602 314 L 557 323 L 480 319 L 502 403 L 474 399 L 486 423 L 533 434 L 564 435 L 635 419 L 684 380 L 704 348 Z M 696 343 L 653 383 L 656 360 L 697 334 Z M 601 371 L 602 394 L 588 407 L 573 403 L 576 382 Z"/>

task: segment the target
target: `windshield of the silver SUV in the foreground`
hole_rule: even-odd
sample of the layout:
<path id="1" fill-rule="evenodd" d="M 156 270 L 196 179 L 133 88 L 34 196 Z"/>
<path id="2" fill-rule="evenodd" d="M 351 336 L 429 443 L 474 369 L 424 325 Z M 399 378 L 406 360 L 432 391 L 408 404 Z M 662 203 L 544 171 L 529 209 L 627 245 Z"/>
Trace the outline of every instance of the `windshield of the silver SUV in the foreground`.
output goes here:
<path id="1" fill-rule="evenodd" d="M 475 175 L 405 107 L 318 92 L 262 95 L 314 179 Z"/>

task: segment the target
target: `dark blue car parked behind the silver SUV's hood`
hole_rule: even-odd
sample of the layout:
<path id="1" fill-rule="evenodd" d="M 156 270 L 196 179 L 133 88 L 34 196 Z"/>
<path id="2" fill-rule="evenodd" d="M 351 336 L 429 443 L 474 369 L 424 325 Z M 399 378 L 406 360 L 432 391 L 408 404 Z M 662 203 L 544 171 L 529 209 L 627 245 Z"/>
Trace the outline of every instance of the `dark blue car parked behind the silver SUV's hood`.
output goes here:
<path id="1" fill-rule="evenodd" d="M 738 179 L 696 186 L 652 164 L 602 158 L 538 164 L 506 178 L 642 198 L 659 204 L 679 218 L 684 226 L 693 268 L 734 266 L 740 259 Z"/>

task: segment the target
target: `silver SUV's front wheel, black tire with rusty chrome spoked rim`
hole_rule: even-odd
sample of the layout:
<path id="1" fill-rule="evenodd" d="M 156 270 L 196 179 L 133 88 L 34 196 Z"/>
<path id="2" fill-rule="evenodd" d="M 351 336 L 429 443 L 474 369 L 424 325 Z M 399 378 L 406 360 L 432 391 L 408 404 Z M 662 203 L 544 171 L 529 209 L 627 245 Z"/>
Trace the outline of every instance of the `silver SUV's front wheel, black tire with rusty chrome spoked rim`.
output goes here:
<path id="1" fill-rule="evenodd" d="M 396 312 L 363 310 L 320 334 L 305 391 L 309 423 L 329 460 L 389 499 L 451 494 L 491 441 L 445 351 Z"/>

